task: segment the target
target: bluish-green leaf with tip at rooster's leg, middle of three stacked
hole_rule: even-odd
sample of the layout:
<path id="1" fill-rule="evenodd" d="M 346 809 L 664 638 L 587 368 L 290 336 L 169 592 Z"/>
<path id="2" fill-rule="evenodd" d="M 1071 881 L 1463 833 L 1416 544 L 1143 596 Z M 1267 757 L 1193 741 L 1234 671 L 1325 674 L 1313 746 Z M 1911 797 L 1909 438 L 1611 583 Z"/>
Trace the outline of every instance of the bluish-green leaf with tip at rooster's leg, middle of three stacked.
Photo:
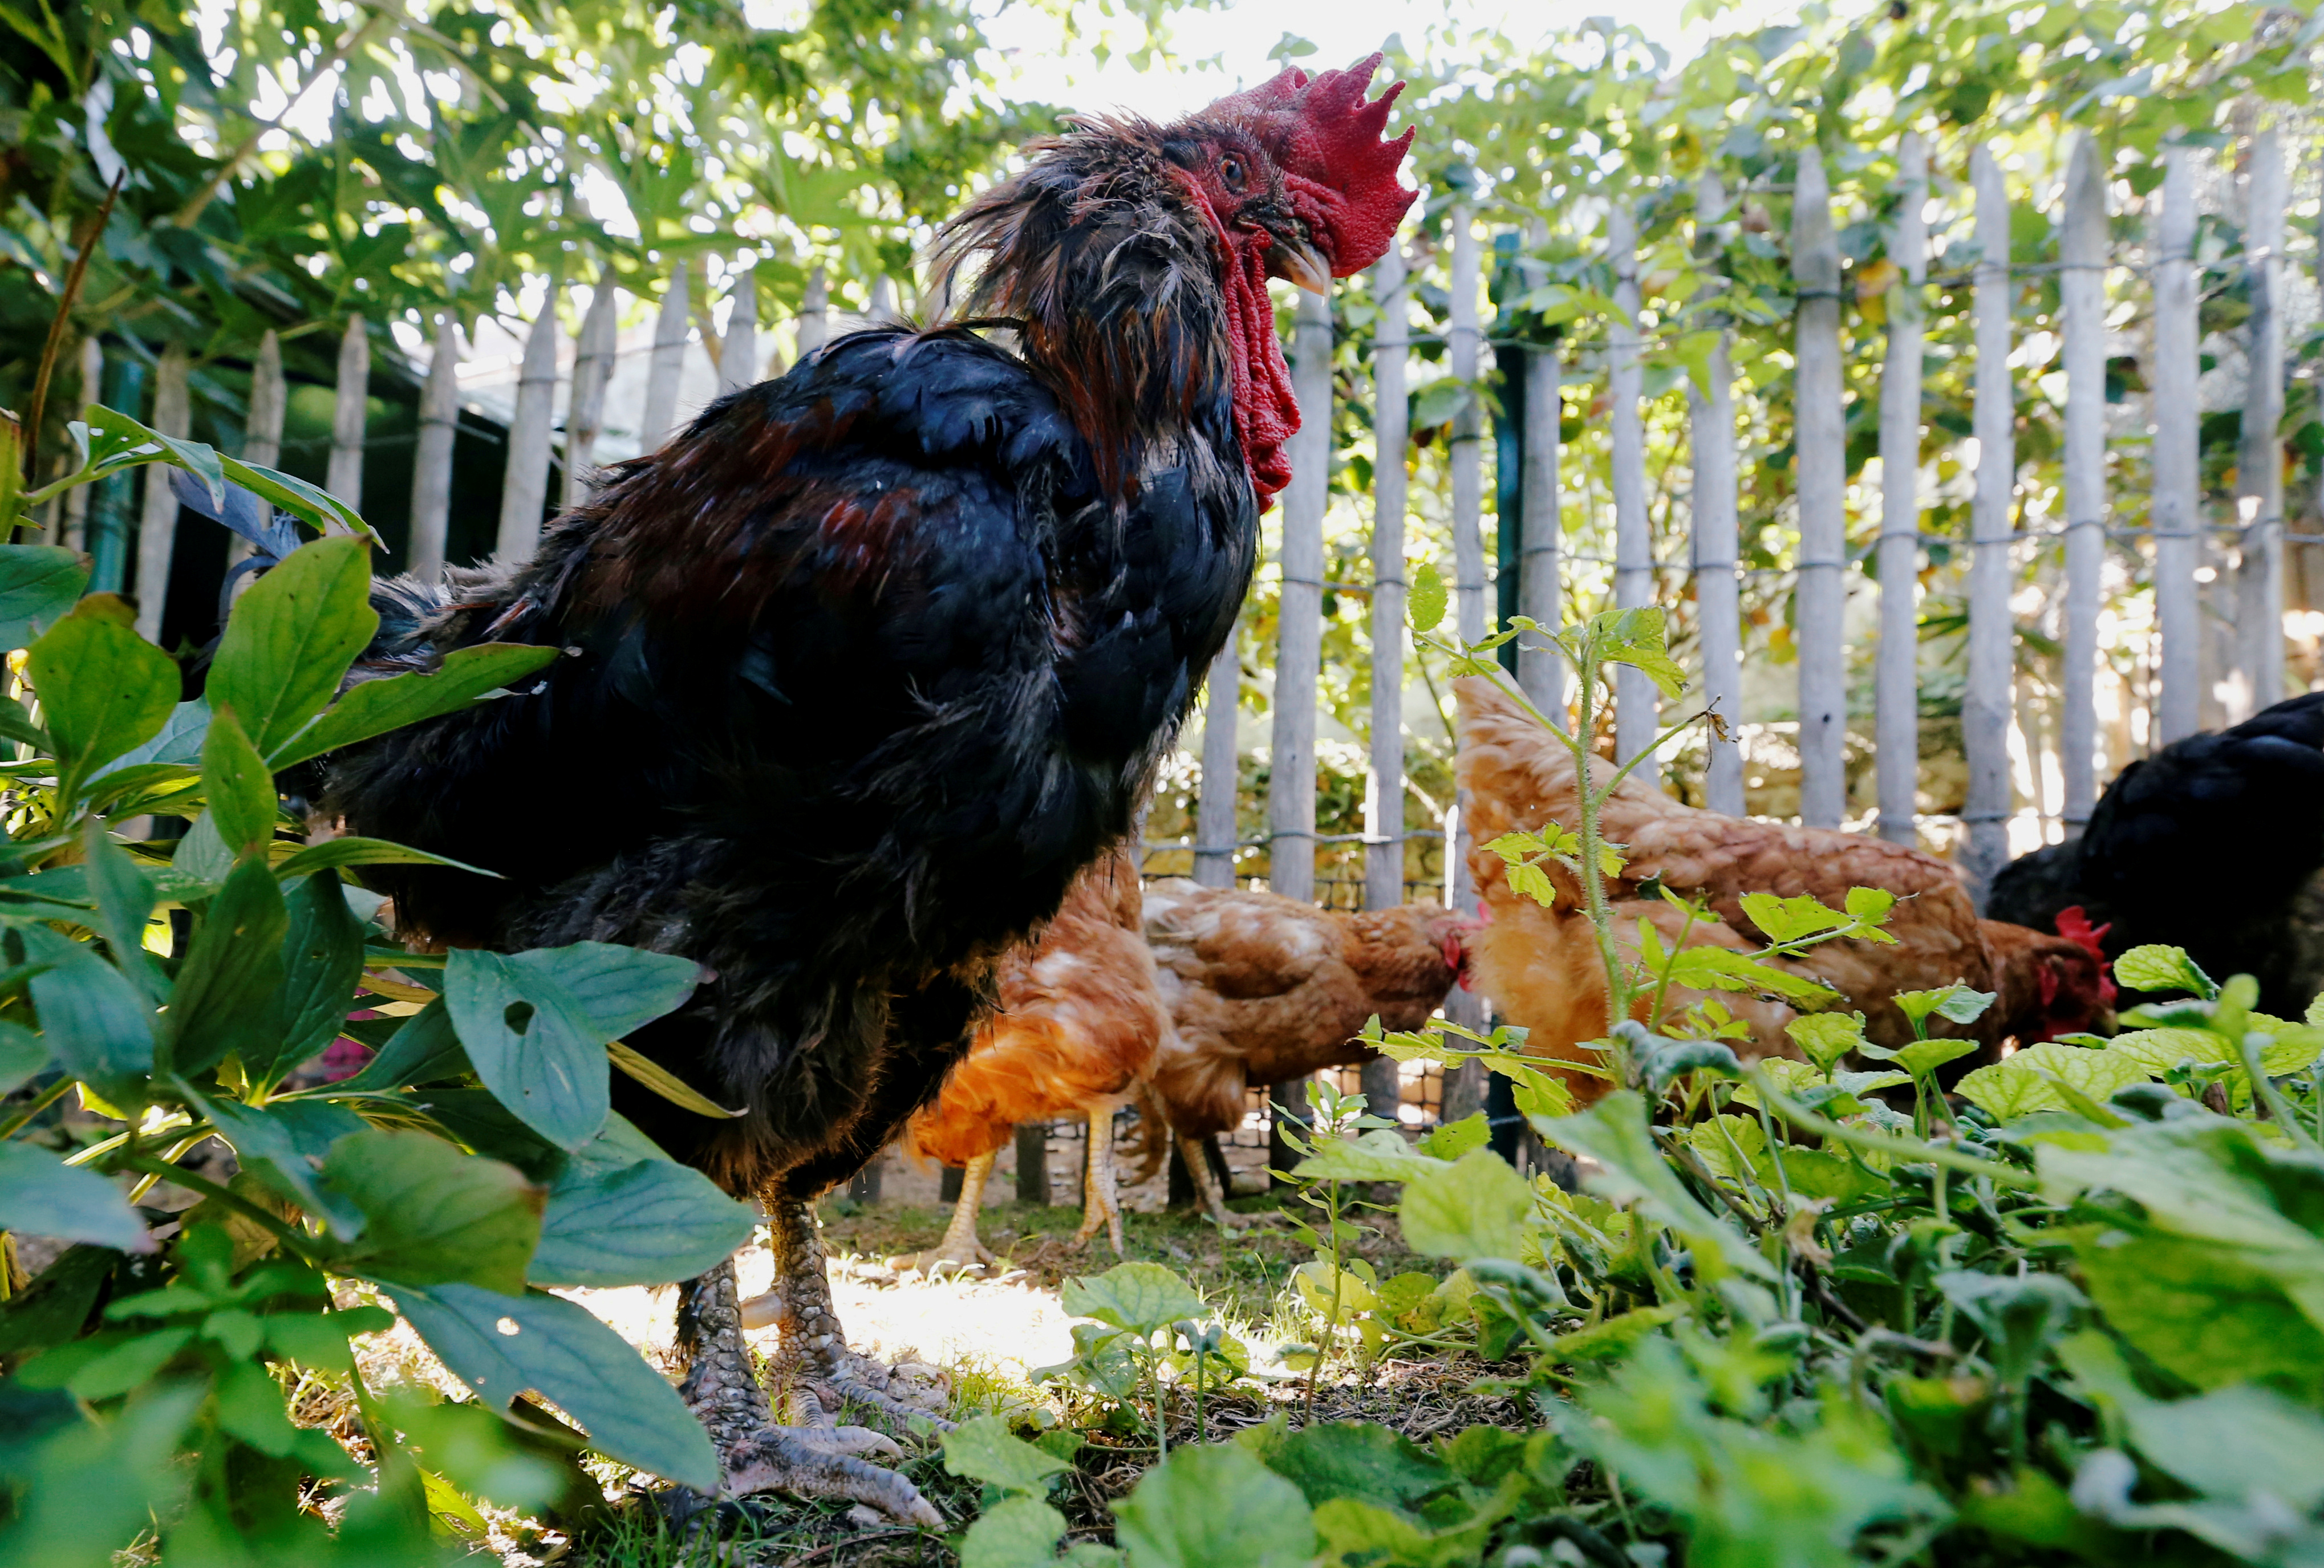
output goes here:
<path id="1" fill-rule="evenodd" d="M 535 1285 L 669 1285 L 709 1273 L 751 1240 L 758 1213 L 688 1166 L 648 1159 L 560 1180 L 541 1213 Z"/>

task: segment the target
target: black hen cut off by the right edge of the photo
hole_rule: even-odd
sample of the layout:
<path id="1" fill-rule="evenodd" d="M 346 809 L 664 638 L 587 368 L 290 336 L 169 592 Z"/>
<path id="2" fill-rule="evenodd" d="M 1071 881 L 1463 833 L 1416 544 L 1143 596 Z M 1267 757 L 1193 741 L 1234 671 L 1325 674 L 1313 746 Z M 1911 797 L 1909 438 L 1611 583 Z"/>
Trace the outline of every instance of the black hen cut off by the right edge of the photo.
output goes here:
<path id="1" fill-rule="evenodd" d="M 2110 957 L 2171 943 L 2212 976 L 2254 976 L 2261 1008 L 2298 1017 L 2324 983 L 2303 908 L 2319 869 L 2324 692 L 2310 692 L 2122 769 L 2078 839 L 2001 866 L 1985 913 L 2050 932 L 2080 904 L 2110 927 Z"/>

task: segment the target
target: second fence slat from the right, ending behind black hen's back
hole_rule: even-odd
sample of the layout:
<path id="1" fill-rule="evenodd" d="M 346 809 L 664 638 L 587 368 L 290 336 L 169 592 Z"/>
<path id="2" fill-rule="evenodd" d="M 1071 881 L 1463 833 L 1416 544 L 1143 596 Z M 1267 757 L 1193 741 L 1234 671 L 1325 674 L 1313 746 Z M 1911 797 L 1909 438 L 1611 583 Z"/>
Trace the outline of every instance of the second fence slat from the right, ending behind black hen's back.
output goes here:
<path id="1" fill-rule="evenodd" d="M 2194 149 L 2164 149 L 2164 207 L 2154 228 L 2154 620 L 2161 632 L 2161 692 L 2154 741 L 2171 743 L 2203 727 L 2201 609 L 2196 604 L 2196 530 L 2201 492 L 2196 439 L 2203 418 L 2196 279 Z"/>

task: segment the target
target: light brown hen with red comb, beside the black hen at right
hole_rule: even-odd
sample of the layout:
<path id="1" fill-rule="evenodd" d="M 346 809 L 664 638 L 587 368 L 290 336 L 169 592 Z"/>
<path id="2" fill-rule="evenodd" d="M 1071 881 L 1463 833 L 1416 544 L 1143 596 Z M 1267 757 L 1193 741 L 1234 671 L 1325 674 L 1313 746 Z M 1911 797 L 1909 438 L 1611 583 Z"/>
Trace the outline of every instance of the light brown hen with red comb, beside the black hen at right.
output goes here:
<path id="1" fill-rule="evenodd" d="M 1538 1057 L 1590 1062 L 1583 1041 L 1606 1034 L 1606 971 L 1580 904 L 1580 883 L 1557 864 L 1545 864 L 1557 890 L 1555 908 L 1543 908 L 1508 885 L 1497 836 L 1538 829 L 1545 822 L 1580 825 L 1573 790 L 1573 757 L 1518 709 L 1492 681 L 1469 676 L 1459 695 L 1459 783 L 1469 794 L 1469 853 L 1485 925 L 1466 934 L 1478 990 L 1513 1024 L 1527 1027 L 1527 1050 Z M 1597 776 L 1613 767 L 1597 762 Z M 1671 892 L 1706 904 L 1710 920 L 1697 920 L 1685 945 L 1720 945 L 1757 952 L 1766 936 L 1743 913 L 1743 894 L 1813 894 L 1841 908 L 1850 887 L 1882 887 L 1896 894 L 1887 929 L 1894 945 L 1831 941 L 1796 959 L 1769 959 L 1778 969 L 1822 980 L 1864 1013 L 1864 1034 L 1875 1045 L 1910 1043 L 1913 1029 L 1896 1010 L 1906 990 L 1934 990 L 1954 980 L 1980 992 L 1999 992 L 1975 1024 L 1931 1017 L 1931 1034 L 1975 1038 L 1996 1048 L 2015 1036 L 2045 1041 L 2089 1029 L 2106 1015 L 2106 976 L 2099 959 L 2061 936 L 1978 920 L 1950 864 L 1936 855 L 1817 827 L 1785 827 L 1727 818 L 1683 806 L 1638 778 L 1624 778 L 1601 813 L 1608 843 L 1622 846 L 1624 869 L 1613 880 L 1615 929 L 1624 945 L 1636 941 L 1638 920 L 1652 922 L 1669 943 L 1685 918 L 1641 885 L 1659 878 Z M 1799 1050 L 1785 1034 L 1794 1008 L 1741 992 L 1694 992 L 1671 987 L 1666 1015 L 1697 1001 L 1717 1001 L 1750 1027 L 1743 1055 Z M 1645 1017 L 1645 1001 L 1636 1006 Z M 1571 1087 L 1592 1099 L 1604 1080 L 1569 1073 Z"/>

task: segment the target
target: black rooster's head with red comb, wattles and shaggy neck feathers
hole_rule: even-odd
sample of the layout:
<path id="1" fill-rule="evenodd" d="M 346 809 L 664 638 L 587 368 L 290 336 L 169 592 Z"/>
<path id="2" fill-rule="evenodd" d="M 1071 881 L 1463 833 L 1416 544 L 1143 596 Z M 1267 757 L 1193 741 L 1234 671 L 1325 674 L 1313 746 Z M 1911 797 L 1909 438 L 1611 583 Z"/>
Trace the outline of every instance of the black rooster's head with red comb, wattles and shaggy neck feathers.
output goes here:
<path id="1" fill-rule="evenodd" d="M 1397 179 L 1413 132 L 1380 135 L 1404 84 L 1367 100 L 1378 65 L 1285 70 L 1169 125 L 1078 118 L 946 228 L 939 265 L 985 256 L 967 314 L 1023 323 L 1109 488 L 1222 386 L 1260 504 L 1290 481 L 1299 404 L 1267 279 L 1329 290 L 1420 195 Z"/>

